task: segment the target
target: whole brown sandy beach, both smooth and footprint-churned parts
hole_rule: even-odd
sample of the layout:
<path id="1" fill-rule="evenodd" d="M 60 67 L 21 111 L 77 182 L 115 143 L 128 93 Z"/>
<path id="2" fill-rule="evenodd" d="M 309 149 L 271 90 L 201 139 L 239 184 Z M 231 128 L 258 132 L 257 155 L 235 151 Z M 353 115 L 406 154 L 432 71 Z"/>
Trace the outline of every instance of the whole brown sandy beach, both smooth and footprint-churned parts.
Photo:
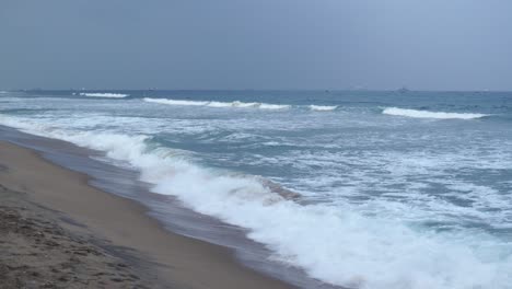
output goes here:
<path id="1" fill-rule="evenodd" d="M 290 288 L 88 181 L 0 142 L 0 288 Z"/>

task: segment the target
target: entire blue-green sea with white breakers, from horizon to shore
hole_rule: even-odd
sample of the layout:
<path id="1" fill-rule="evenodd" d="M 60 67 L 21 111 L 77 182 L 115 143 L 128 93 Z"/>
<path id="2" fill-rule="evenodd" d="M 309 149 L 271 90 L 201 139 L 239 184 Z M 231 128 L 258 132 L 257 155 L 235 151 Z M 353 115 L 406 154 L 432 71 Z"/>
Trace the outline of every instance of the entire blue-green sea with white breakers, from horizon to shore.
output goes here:
<path id="1" fill-rule="evenodd" d="M 512 93 L 24 91 L 0 125 L 105 153 L 347 288 L 512 288 Z"/>

